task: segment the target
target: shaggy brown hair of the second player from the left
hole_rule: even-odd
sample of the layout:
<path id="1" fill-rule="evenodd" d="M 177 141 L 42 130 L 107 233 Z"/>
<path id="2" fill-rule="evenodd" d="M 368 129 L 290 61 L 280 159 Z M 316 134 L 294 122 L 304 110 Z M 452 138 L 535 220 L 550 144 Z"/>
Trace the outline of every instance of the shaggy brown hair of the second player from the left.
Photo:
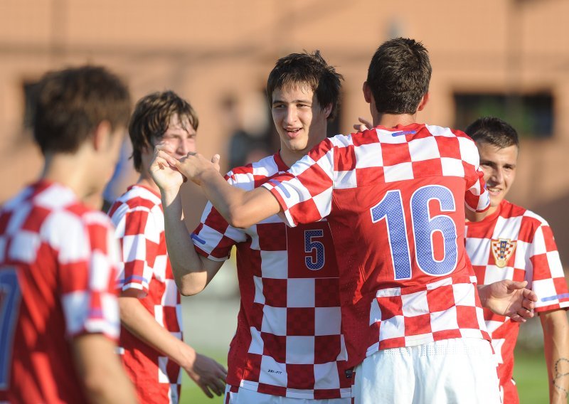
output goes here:
<path id="1" fill-rule="evenodd" d="M 137 171 L 142 169 L 142 153 L 148 148 L 154 149 L 152 138 L 164 136 L 174 115 L 178 115 L 180 122 L 188 119 L 191 127 L 198 129 L 196 111 L 174 91 L 153 92 L 138 100 L 129 122 L 132 159 Z"/>

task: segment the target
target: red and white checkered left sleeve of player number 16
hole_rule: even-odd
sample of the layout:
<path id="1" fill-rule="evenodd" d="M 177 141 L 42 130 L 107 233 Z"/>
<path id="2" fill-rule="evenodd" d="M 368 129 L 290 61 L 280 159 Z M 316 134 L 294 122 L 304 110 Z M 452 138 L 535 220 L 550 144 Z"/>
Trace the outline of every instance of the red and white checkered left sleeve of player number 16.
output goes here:
<path id="1" fill-rule="evenodd" d="M 324 139 L 285 174 L 262 184 L 280 204 L 289 226 L 312 223 L 329 215 L 334 189 L 334 147 Z"/>

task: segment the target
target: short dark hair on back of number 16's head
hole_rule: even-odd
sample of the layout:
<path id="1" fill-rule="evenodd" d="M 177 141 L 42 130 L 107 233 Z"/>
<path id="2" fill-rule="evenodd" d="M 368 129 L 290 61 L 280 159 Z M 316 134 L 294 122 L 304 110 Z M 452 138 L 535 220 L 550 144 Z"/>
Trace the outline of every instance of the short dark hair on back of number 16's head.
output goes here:
<path id="1" fill-rule="evenodd" d="M 395 38 L 373 54 L 367 83 L 381 114 L 415 114 L 429 90 L 432 68 L 422 43 Z"/>

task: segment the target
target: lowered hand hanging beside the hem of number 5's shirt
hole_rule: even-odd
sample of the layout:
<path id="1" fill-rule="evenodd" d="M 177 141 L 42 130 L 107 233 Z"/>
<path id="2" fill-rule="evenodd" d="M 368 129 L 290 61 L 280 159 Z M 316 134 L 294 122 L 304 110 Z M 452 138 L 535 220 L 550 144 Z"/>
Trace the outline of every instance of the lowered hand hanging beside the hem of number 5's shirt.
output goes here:
<path id="1" fill-rule="evenodd" d="M 225 391 L 227 370 L 212 358 L 195 352 L 193 361 L 184 370 L 209 398 L 213 394 L 222 395 Z"/>

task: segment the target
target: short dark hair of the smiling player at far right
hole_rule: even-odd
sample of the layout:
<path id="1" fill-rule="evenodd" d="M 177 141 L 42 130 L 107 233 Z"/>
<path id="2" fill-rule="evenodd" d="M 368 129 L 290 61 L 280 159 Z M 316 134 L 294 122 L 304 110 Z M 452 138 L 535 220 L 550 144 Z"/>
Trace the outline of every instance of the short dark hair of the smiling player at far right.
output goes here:
<path id="1" fill-rule="evenodd" d="M 464 132 L 472 137 L 474 142 L 489 143 L 499 149 L 510 146 L 520 146 L 518 132 L 508 122 L 496 117 L 478 118 L 469 124 Z"/>

